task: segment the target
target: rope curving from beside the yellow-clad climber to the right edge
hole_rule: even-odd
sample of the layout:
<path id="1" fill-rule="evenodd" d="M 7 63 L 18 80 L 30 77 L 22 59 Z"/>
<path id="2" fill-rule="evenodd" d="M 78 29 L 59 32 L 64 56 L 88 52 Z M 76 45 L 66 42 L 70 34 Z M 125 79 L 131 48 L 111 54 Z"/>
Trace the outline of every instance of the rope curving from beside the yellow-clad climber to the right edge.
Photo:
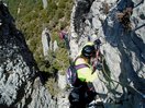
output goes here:
<path id="1" fill-rule="evenodd" d="M 121 83 L 121 82 L 118 82 L 118 81 L 111 79 L 111 77 L 108 75 L 108 73 L 107 73 L 107 71 L 105 71 L 105 69 L 104 69 L 104 62 L 105 62 L 105 61 L 104 61 L 104 57 L 102 57 L 102 72 L 104 73 L 104 75 L 105 75 L 111 82 L 115 82 L 115 83 L 118 83 L 118 84 L 120 84 L 120 85 L 122 85 L 122 86 L 130 87 L 130 88 L 134 89 L 137 94 L 140 94 L 140 95 L 145 99 L 145 94 L 143 94 L 142 92 L 137 91 L 136 88 L 132 87 L 131 85 L 123 84 L 123 83 Z M 99 77 L 99 79 L 100 79 L 100 77 Z M 103 80 L 101 80 L 101 81 L 103 81 Z M 104 81 L 103 81 L 103 82 L 104 82 Z"/>

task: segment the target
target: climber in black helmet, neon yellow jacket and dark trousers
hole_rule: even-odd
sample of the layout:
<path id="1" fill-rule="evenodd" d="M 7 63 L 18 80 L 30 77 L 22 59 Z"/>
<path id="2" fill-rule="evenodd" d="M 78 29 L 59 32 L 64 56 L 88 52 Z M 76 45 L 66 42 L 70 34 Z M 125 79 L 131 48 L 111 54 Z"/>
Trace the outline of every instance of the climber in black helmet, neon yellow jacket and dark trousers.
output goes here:
<path id="1" fill-rule="evenodd" d="M 85 45 L 75 60 L 75 65 L 87 64 L 87 67 L 77 70 L 78 80 L 69 94 L 70 108 L 86 108 L 97 95 L 92 82 L 97 79 L 97 72 L 93 72 L 90 60 L 96 56 L 93 43 Z"/>

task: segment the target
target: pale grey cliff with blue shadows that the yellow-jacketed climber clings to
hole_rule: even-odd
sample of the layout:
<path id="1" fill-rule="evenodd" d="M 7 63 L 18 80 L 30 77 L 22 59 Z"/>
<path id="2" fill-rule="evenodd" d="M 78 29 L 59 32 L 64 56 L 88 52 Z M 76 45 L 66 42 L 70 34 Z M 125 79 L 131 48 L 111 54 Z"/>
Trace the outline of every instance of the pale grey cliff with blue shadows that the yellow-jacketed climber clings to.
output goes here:
<path id="1" fill-rule="evenodd" d="M 133 7 L 134 5 L 134 7 Z M 131 28 L 116 14 L 133 7 Z M 71 57 L 97 31 L 108 71 L 94 81 L 105 108 L 145 107 L 144 0 L 76 0 L 71 13 Z M 75 44 L 74 44 L 75 41 Z M 72 44 L 71 44 L 72 43 Z M 74 46 L 77 46 L 76 49 Z M 105 69 L 107 69 L 107 65 Z"/>

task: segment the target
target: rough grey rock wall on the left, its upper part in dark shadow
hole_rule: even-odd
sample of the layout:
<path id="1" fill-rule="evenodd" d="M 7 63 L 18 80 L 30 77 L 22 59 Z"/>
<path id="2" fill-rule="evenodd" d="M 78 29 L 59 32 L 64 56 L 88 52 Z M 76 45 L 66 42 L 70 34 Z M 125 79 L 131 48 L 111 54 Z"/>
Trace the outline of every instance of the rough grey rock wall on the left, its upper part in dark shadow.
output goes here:
<path id="1" fill-rule="evenodd" d="M 0 2 L 0 108 L 55 108 L 23 34 Z"/>

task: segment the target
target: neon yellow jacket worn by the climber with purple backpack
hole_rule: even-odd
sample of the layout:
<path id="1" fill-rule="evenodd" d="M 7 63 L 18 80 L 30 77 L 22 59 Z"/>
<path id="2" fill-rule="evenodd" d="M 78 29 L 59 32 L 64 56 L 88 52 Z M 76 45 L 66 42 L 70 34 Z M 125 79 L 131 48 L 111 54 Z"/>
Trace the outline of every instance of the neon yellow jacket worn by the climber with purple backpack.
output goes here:
<path id="1" fill-rule="evenodd" d="M 87 63 L 87 61 L 83 58 L 78 58 L 75 62 L 75 64 L 81 64 L 81 63 Z M 88 64 L 89 65 L 89 64 Z M 77 70 L 78 79 L 82 82 L 93 82 L 94 79 L 97 79 L 97 72 L 92 73 L 91 67 L 86 67 L 82 69 Z"/>

